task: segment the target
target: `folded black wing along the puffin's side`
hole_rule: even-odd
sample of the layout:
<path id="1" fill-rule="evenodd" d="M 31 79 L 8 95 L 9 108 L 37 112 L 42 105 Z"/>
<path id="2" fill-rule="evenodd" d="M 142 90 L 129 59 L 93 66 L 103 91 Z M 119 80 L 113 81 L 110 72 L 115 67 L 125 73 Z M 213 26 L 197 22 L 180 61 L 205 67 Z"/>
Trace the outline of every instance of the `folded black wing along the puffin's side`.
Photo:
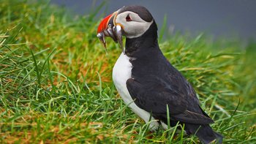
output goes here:
<path id="1" fill-rule="evenodd" d="M 176 75 L 177 76 L 177 75 Z M 170 78 L 170 77 L 168 77 Z M 168 79 L 167 78 L 167 79 Z M 172 77 L 176 79 L 175 77 Z M 184 78 L 181 76 L 181 80 Z M 141 80 L 141 79 L 140 79 Z M 166 83 L 166 80 L 155 76 L 147 76 L 140 80 L 130 78 L 127 80 L 127 88 L 135 104 L 153 115 L 162 115 L 166 118 L 167 105 L 170 117 L 175 121 L 182 121 L 192 124 L 211 124 L 214 121 L 201 110 L 195 91 L 187 83 L 188 91 L 185 91 L 179 84 Z M 168 81 L 168 80 L 167 80 Z M 174 80 L 175 81 L 175 80 Z M 191 96 L 188 96 L 190 94 Z M 193 96 L 194 94 L 194 96 Z"/>

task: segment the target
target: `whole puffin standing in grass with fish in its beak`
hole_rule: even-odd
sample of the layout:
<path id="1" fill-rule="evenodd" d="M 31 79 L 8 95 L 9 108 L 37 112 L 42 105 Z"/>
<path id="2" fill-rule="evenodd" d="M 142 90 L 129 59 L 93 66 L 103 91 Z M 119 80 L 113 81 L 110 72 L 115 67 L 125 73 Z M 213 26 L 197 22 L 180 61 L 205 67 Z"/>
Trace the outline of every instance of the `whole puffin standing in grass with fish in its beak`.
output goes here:
<path id="1" fill-rule="evenodd" d="M 222 143 L 194 88 L 160 50 L 157 23 L 145 7 L 124 6 L 108 15 L 99 23 L 97 37 L 105 48 L 105 37 L 119 43 L 122 52 L 113 67 L 113 83 L 124 103 L 150 123 L 151 131 L 178 123 L 203 143 Z"/>

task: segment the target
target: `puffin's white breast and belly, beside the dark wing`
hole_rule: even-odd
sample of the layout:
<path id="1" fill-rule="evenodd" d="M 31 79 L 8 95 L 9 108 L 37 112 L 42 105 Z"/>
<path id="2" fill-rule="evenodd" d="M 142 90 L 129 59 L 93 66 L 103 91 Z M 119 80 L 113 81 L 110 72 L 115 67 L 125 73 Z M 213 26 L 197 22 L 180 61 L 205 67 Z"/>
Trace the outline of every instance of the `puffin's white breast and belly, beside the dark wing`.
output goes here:
<path id="1" fill-rule="evenodd" d="M 150 118 L 150 113 L 135 105 L 135 102 L 133 102 L 132 97 L 129 95 L 129 91 L 127 89 L 127 80 L 131 78 L 131 75 L 132 64 L 129 62 L 129 57 L 124 53 L 121 53 L 115 66 L 113 67 L 113 82 L 121 98 L 124 100 L 124 103 L 129 105 L 132 111 L 139 115 L 140 118 L 143 118 L 143 120 L 147 123 Z M 151 121 L 151 129 L 157 129 L 159 123 L 155 121 L 154 118 L 151 118 Z"/>

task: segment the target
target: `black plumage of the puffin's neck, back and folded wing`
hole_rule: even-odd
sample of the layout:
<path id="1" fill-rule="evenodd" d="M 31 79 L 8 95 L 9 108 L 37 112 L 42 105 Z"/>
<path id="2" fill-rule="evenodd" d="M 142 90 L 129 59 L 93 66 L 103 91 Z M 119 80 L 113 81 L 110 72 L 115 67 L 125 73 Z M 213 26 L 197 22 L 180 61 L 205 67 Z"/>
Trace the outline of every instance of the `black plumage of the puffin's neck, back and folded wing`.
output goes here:
<path id="1" fill-rule="evenodd" d="M 159 49 L 155 22 L 142 36 L 127 38 L 125 53 L 132 63 L 127 88 L 138 107 L 165 122 L 168 105 L 173 121 L 213 123 L 201 110 L 192 86 Z"/>

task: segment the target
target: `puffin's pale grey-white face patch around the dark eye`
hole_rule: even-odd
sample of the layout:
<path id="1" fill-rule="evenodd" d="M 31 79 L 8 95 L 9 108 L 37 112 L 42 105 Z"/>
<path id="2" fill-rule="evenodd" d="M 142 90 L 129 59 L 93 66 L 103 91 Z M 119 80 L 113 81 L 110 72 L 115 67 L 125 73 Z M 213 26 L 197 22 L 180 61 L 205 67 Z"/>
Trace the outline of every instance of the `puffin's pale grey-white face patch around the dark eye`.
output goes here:
<path id="1" fill-rule="evenodd" d="M 131 11 L 121 12 L 116 16 L 116 25 L 120 25 L 127 38 L 140 37 L 144 34 L 153 23 L 147 22 L 140 18 L 140 16 Z"/>

